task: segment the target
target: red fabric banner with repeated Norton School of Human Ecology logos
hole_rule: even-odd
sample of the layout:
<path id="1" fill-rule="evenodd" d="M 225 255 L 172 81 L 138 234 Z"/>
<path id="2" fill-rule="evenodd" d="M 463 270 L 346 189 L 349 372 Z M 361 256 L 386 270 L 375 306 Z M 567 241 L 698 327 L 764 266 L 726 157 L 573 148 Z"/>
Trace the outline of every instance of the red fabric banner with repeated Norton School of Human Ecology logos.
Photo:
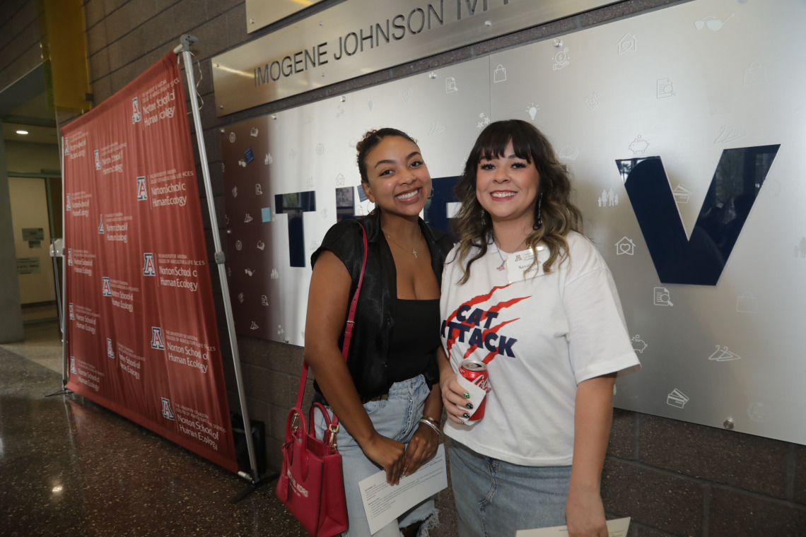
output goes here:
<path id="1" fill-rule="evenodd" d="M 237 472 L 187 118 L 170 52 L 62 129 L 67 387 Z"/>

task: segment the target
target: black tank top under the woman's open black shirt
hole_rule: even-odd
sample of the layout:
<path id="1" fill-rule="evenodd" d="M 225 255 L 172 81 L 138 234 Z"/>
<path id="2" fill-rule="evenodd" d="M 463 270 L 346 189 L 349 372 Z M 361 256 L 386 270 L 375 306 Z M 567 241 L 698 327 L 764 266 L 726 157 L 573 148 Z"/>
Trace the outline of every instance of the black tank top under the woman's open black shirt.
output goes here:
<path id="1" fill-rule="evenodd" d="M 422 374 L 439 345 L 439 299 L 397 299 L 386 361 L 389 380 L 402 382 Z"/>

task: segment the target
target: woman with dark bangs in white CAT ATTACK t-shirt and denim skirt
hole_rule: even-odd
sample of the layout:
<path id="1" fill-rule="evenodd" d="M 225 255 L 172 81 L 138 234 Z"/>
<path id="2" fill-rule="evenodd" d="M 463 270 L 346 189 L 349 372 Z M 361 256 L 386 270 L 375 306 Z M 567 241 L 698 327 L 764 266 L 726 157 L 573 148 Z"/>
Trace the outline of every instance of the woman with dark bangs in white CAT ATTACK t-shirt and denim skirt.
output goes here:
<path id="1" fill-rule="evenodd" d="M 530 123 L 494 122 L 456 193 L 439 362 L 459 535 L 567 523 L 571 537 L 606 537 L 613 384 L 640 365 L 610 271 L 581 234 L 567 171 Z M 487 365 L 482 419 L 457 378 L 465 359 Z"/>

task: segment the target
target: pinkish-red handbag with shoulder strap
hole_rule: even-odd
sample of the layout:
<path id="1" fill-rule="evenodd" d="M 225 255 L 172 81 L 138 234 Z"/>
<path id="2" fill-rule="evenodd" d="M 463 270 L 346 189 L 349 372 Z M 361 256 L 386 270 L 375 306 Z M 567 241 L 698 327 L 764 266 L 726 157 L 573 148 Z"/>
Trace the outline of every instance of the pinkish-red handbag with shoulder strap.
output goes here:
<path id="1" fill-rule="evenodd" d="M 361 274 L 352 297 L 347 323 L 344 325 L 342 355 L 345 360 L 355 325 L 353 320 L 361 283 L 364 281 L 364 267 L 367 265 L 367 233 L 364 231 L 364 225 L 360 223 L 359 225 L 364 241 L 364 260 L 361 263 Z M 289 411 L 289 417 L 285 422 L 283 468 L 275 492 L 280 502 L 288 507 L 291 514 L 312 537 L 333 537 L 347 529 L 342 456 L 336 449 L 339 419 L 334 415 L 331 422 L 322 403 L 314 403 L 310 407 L 309 420 L 305 422 L 302 396 L 305 394 L 307 378 L 308 364 L 303 361 L 297 404 Z M 324 415 L 327 424 L 322 440 L 316 438 L 313 425 L 314 411 L 317 408 Z"/>

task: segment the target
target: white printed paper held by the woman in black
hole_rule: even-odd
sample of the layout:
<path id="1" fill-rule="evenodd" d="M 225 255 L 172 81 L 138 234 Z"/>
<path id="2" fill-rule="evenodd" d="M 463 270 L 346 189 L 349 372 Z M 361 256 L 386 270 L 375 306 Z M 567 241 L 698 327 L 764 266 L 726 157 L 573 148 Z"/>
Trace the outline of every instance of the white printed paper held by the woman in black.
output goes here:
<path id="1" fill-rule="evenodd" d="M 375 533 L 426 498 L 448 486 L 445 467 L 445 446 L 439 444 L 434 457 L 417 472 L 401 477 L 397 485 L 386 482 L 386 472 L 380 472 L 359 481 L 369 531 Z"/>

